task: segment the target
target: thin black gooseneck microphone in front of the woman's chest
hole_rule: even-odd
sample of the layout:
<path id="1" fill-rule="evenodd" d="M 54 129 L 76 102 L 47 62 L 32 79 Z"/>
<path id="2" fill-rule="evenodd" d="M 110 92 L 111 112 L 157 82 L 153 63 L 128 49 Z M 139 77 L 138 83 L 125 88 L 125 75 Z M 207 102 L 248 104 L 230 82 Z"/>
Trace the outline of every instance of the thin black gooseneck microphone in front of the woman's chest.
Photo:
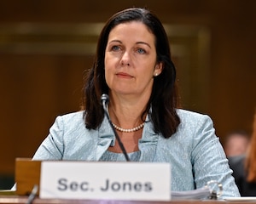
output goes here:
<path id="1" fill-rule="evenodd" d="M 119 138 L 118 133 L 116 133 L 116 131 L 113 127 L 113 123 L 111 122 L 110 117 L 108 115 L 108 102 L 109 102 L 108 94 L 102 94 L 102 106 L 103 106 L 104 113 L 108 118 L 108 123 L 109 123 L 109 125 L 111 126 L 111 128 L 113 130 L 115 138 L 118 140 L 119 146 L 120 146 L 120 148 L 121 148 L 121 150 L 122 150 L 122 152 L 125 156 L 125 160 L 130 161 L 129 156 L 127 155 L 127 152 L 125 150 L 124 144 L 122 143 L 121 139 Z"/>

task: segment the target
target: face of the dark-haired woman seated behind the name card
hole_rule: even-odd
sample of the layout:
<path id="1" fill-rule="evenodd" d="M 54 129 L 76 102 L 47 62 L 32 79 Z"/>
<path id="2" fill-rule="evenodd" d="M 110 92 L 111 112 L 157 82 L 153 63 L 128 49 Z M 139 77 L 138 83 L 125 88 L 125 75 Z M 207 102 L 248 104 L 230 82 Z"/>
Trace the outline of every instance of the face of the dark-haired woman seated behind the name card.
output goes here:
<path id="1" fill-rule="evenodd" d="M 142 22 L 115 26 L 105 51 L 105 76 L 113 94 L 150 96 L 154 76 L 162 71 L 156 64 L 155 39 Z"/>

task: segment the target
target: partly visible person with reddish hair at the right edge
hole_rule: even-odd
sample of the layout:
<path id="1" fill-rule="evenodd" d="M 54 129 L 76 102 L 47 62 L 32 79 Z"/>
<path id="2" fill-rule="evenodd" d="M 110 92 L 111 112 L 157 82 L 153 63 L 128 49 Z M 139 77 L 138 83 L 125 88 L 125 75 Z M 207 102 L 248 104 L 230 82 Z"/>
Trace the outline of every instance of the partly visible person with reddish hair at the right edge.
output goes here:
<path id="1" fill-rule="evenodd" d="M 246 154 L 229 157 L 230 167 L 242 196 L 256 196 L 256 112 L 250 141 Z"/>

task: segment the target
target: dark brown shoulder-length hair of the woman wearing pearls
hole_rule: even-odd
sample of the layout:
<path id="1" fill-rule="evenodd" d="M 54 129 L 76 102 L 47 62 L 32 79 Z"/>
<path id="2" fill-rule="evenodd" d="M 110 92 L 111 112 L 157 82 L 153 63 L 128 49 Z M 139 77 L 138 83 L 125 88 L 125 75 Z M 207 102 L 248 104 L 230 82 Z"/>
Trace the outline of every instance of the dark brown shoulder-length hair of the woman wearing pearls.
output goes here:
<path id="1" fill-rule="evenodd" d="M 154 77 L 152 93 L 142 118 L 145 114 L 149 114 L 149 119 L 154 124 L 154 132 L 162 133 L 165 138 L 169 138 L 173 133 L 176 133 L 180 123 L 176 112 L 179 105 L 176 69 L 172 63 L 166 31 L 160 20 L 146 8 L 122 10 L 113 14 L 103 27 L 98 40 L 94 63 L 85 78 L 83 96 L 85 126 L 89 129 L 96 129 L 101 125 L 104 117 L 101 96 L 108 94 L 109 89 L 104 73 L 104 58 L 109 32 L 113 27 L 131 21 L 142 22 L 154 34 L 157 63 L 163 65 L 161 74 Z M 151 111 L 149 112 L 150 108 Z"/>

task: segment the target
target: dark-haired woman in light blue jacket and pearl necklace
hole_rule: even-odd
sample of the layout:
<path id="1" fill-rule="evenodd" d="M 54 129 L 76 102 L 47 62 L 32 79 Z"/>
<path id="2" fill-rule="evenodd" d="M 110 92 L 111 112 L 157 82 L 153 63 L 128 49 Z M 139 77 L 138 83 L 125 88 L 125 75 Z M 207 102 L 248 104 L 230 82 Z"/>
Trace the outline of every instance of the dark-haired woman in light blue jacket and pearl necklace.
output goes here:
<path id="1" fill-rule="evenodd" d="M 177 109 L 175 77 L 160 20 L 143 8 L 114 14 L 86 78 L 84 110 L 58 116 L 33 160 L 125 161 L 102 109 L 108 94 L 109 116 L 131 161 L 170 162 L 172 190 L 217 180 L 224 196 L 239 196 L 212 120 Z"/>

